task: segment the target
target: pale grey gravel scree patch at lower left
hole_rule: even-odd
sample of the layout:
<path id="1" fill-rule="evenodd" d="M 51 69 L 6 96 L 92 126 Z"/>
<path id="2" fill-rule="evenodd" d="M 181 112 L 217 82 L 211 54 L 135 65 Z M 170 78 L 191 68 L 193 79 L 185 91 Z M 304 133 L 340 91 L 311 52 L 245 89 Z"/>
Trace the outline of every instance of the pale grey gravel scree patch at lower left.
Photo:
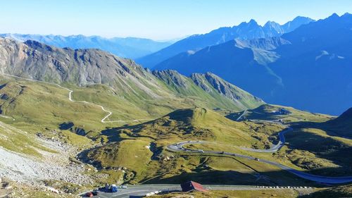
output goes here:
<path id="1" fill-rule="evenodd" d="M 41 185 L 41 180 L 61 180 L 77 185 L 92 182 L 83 174 L 83 165 L 69 160 L 70 156 L 77 154 L 77 149 L 54 139 L 38 137 L 38 140 L 44 147 L 58 153 L 40 150 L 43 157 L 36 159 L 0 147 L 0 178 L 34 186 Z"/>

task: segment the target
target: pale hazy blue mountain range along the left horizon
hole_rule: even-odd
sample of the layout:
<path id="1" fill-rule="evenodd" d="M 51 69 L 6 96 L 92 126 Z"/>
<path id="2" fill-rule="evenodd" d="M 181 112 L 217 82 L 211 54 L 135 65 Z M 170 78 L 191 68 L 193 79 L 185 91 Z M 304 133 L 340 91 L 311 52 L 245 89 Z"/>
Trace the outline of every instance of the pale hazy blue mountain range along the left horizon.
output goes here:
<path id="1" fill-rule="evenodd" d="M 61 36 L 61 35 L 20 35 L 0 34 L 0 37 L 8 37 L 22 42 L 34 40 L 55 47 L 69 47 L 72 49 L 102 49 L 117 56 L 125 58 L 138 58 L 151 54 L 155 51 L 168 47 L 173 42 L 156 42 L 151 39 L 142 38 L 119 38 L 111 39 L 83 35 Z"/>

